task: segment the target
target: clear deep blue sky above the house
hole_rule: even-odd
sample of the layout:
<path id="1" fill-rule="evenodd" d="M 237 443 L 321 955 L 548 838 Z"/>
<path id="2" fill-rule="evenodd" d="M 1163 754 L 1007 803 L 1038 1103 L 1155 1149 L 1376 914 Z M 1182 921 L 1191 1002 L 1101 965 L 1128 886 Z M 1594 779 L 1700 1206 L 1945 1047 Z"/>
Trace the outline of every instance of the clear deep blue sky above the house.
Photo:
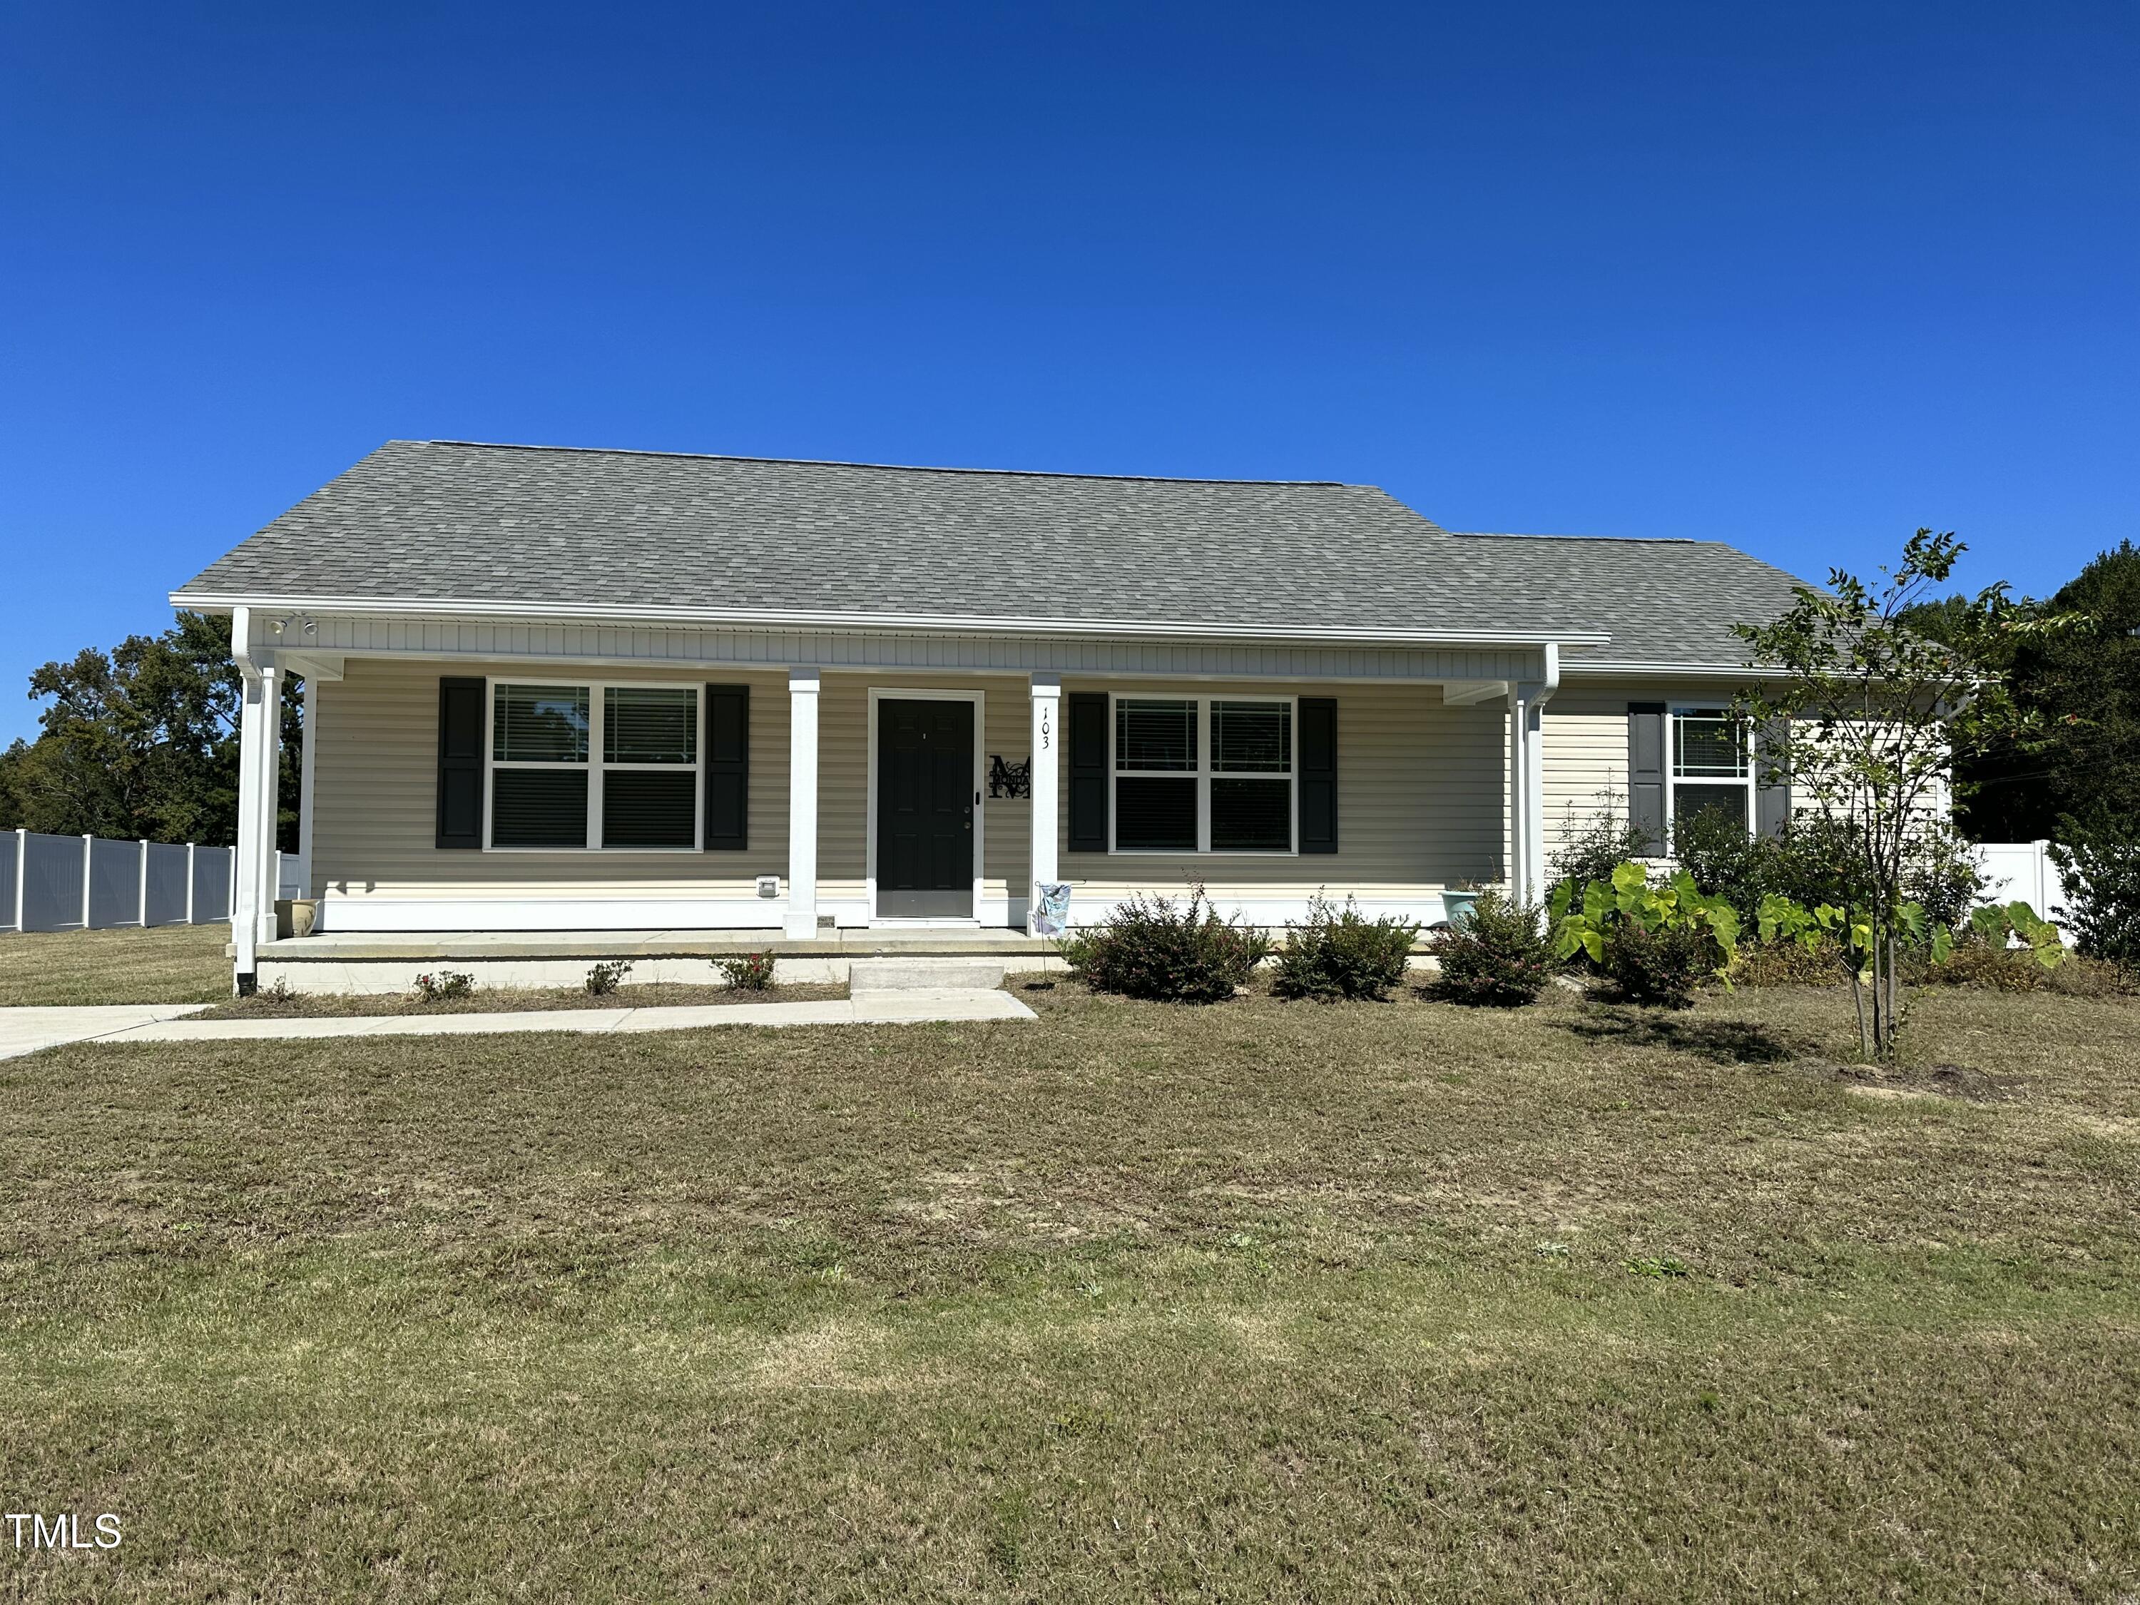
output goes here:
<path id="1" fill-rule="evenodd" d="M 392 437 L 2140 537 L 2140 9 L 0 11 L 0 738 Z"/>

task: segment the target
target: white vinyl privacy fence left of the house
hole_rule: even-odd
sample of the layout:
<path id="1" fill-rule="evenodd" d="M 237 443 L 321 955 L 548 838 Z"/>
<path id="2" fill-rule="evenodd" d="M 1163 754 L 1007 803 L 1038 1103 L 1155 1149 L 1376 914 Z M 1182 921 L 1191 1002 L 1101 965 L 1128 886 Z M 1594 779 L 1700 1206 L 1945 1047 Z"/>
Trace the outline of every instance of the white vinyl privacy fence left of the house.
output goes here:
<path id="1" fill-rule="evenodd" d="M 235 847 L 0 835 L 0 931 L 103 931 L 231 918 Z M 304 895 L 304 862 L 276 854 L 280 897 Z"/>

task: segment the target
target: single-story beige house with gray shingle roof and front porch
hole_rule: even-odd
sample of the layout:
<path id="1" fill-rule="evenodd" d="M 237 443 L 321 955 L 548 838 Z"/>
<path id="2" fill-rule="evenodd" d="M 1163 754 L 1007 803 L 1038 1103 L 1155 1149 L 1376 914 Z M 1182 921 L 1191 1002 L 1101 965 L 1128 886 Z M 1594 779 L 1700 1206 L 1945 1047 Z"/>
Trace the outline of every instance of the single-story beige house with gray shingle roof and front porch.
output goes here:
<path id="1" fill-rule="evenodd" d="M 1374 486 L 392 441 L 171 601 L 246 683 L 244 984 L 287 674 L 327 937 L 1008 935 L 1040 882 L 1083 922 L 1192 880 L 1432 924 L 1607 796 L 1656 850 L 1780 822 L 1723 708 L 1793 584 Z"/>

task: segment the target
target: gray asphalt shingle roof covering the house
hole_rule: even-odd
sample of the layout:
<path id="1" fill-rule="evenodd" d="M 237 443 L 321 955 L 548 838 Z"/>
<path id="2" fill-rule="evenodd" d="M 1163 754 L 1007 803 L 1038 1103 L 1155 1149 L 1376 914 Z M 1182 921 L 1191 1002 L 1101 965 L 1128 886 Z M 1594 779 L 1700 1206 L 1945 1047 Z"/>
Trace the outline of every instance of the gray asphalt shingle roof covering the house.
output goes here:
<path id="1" fill-rule="evenodd" d="M 389 441 L 175 601 L 1611 631 L 1740 661 L 1791 578 L 1708 541 L 1451 535 L 1372 486 Z"/>

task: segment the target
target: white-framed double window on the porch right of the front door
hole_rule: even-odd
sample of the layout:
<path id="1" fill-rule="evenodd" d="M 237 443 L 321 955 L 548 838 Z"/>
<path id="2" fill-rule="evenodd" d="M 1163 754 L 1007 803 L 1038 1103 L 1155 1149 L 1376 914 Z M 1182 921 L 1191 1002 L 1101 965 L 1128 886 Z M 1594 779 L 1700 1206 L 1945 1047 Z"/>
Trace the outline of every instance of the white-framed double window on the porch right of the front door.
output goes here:
<path id="1" fill-rule="evenodd" d="M 1293 698 L 1124 693 L 1111 713 L 1111 852 L 1297 852 Z"/>

